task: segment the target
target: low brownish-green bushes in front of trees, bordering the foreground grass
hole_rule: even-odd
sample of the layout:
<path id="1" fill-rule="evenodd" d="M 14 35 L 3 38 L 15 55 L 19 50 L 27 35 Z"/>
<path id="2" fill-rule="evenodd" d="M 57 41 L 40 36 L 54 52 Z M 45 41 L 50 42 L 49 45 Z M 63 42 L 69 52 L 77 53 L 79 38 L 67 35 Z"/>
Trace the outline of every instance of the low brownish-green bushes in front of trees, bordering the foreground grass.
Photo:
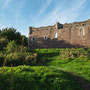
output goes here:
<path id="1" fill-rule="evenodd" d="M 1 56 L 1 63 L 0 66 L 5 64 L 5 66 L 18 66 L 18 65 L 35 65 L 36 64 L 36 56 L 33 53 L 19 53 L 13 52 L 5 55 L 4 57 Z"/>

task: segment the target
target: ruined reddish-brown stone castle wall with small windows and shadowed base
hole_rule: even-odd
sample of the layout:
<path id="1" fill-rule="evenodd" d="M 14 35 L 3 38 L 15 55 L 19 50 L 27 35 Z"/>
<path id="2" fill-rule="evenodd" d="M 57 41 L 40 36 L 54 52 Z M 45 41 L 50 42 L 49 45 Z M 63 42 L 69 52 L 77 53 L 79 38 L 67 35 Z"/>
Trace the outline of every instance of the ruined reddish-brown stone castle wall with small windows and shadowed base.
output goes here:
<path id="1" fill-rule="evenodd" d="M 84 22 L 53 26 L 29 27 L 29 48 L 88 48 L 90 47 L 90 19 Z"/>

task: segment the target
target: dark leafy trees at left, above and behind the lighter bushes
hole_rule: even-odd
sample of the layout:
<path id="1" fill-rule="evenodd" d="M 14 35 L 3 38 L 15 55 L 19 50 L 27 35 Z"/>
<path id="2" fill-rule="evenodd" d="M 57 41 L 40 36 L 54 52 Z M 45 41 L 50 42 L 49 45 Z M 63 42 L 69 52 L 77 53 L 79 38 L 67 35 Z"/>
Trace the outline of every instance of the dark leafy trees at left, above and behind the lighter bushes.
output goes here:
<path id="1" fill-rule="evenodd" d="M 15 41 L 17 45 L 27 46 L 27 37 L 21 35 L 16 29 L 11 27 L 0 30 L 0 50 L 3 50 L 12 41 Z"/>

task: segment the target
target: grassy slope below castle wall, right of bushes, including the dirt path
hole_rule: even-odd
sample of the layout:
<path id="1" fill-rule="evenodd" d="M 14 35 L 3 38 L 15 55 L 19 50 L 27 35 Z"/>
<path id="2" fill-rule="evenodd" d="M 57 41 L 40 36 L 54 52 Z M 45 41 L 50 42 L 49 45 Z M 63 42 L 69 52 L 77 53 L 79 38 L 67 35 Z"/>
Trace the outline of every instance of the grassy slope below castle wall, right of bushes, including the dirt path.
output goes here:
<path id="1" fill-rule="evenodd" d="M 43 64 L 57 70 L 63 70 L 71 74 L 84 90 L 90 90 L 90 50 L 74 49 L 73 52 L 70 50 L 37 49 L 38 60 L 39 62 L 41 61 L 39 65 Z M 72 54 L 70 55 L 71 52 Z M 72 55 L 74 56 L 72 57 Z"/>

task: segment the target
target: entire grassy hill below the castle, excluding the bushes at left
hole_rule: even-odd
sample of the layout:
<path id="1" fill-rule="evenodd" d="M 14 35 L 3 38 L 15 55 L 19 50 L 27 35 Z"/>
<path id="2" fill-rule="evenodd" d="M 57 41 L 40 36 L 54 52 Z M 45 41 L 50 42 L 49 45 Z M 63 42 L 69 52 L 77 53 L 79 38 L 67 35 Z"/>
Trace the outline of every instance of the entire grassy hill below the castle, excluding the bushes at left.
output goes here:
<path id="1" fill-rule="evenodd" d="M 0 68 L 0 90 L 90 90 L 90 49 L 34 52 L 33 66 Z"/>

